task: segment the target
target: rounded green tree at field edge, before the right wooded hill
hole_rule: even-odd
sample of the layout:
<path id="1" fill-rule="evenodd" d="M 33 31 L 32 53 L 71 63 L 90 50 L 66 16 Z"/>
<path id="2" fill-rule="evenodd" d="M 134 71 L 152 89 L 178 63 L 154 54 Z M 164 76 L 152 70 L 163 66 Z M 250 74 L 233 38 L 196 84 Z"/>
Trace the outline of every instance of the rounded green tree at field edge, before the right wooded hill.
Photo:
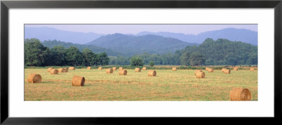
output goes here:
<path id="1" fill-rule="evenodd" d="M 193 66 L 199 66 L 204 65 L 205 59 L 204 55 L 202 55 L 200 52 L 194 52 L 190 56 L 190 65 Z"/>

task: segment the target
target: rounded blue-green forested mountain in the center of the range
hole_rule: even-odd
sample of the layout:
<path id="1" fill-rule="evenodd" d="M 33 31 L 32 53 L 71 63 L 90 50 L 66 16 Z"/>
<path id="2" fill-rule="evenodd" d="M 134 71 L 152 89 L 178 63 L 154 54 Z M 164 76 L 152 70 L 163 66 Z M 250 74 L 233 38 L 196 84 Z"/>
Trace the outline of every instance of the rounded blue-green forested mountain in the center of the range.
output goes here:
<path id="1" fill-rule="evenodd" d="M 183 49 L 191 44 L 179 39 L 166 38 L 157 35 L 125 35 L 125 34 L 109 34 L 99 37 L 87 45 L 95 45 L 104 48 L 109 48 L 113 51 L 125 53 L 127 55 L 135 55 L 140 53 L 174 53 L 177 50 Z"/>

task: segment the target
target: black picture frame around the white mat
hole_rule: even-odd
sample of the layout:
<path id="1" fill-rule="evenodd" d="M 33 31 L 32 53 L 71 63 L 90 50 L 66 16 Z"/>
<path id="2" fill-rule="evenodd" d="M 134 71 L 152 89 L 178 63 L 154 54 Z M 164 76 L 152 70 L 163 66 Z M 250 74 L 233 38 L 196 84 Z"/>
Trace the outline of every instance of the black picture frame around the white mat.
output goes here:
<path id="1" fill-rule="evenodd" d="M 252 120 L 281 119 L 282 95 L 282 1 L 1 1 L 1 124 L 125 124 L 133 121 L 147 123 L 147 120 L 172 123 L 190 118 L 102 118 L 102 117 L 63 117 L 63 118 L 13 118 L 8 117 L 8 13 L 9 8 L 274 8 L 274 118 L 251 118 Z M 56 112 L 54 112 L 56 113 Z M 195 117 L 194 117 L 195 118 Z M 249 117 L 250 118 L 250 117 Z M 204 118 L 209 119 L 209 118 Z M 231 118 L 226 118 L 231 119 Z M 245 119 L 245 118 L 244 118 Z M 218 121 L 219 119 L 209 119 Z M 238 122 L 231 119 L 232 122 Z M 250 121 L 252 121 L 250 120 Z M 195 121 L 205 121 L 196 118 Z M 166 122 L 167 123 L 167 122 Z"/>

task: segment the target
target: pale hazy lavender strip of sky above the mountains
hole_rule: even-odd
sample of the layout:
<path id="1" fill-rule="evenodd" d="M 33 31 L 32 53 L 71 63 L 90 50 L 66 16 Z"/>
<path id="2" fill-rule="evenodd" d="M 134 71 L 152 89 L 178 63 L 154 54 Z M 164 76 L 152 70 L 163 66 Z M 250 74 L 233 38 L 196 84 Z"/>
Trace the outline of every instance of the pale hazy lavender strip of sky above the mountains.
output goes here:
<path id="1" fill-rule="evenodd" d="M 137 34 L 139 32 L 174 32 L 200 34 L 225 28 L 250 29 L 257 32 L 257 25 L 25 25 L 25 27 L 52 27 L 71 32 L 97 34 Z"/>

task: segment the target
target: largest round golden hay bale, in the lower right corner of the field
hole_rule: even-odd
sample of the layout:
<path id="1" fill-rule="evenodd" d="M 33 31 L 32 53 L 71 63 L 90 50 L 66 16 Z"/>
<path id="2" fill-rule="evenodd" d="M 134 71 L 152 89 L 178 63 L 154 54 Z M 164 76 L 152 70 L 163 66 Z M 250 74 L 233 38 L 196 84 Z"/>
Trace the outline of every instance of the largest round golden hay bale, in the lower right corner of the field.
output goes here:
<path id="1" fill-rule="evenodd" d="M 251 100 L 252 94 L 247 88 L 233 88 L 230 91 L 230 100 Z"/>

